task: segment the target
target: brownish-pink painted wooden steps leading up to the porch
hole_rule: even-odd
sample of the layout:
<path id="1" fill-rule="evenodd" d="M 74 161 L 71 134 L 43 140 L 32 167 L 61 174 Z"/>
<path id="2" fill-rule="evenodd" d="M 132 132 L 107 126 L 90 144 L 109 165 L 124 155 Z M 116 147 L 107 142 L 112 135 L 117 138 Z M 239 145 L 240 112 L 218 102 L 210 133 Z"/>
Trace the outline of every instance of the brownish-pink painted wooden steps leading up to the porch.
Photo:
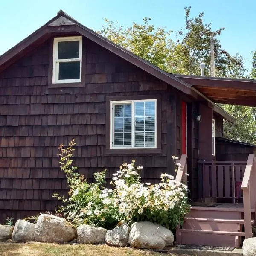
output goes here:
<path id="1" fill-rule="evenodd" d="M 254 223 L 255 211 L 251 210 Z M 244 233 L 243 204 L 191 207 L 182 229 L 176 230 L 176 244 L 230 246 L 239 248 Z"/>

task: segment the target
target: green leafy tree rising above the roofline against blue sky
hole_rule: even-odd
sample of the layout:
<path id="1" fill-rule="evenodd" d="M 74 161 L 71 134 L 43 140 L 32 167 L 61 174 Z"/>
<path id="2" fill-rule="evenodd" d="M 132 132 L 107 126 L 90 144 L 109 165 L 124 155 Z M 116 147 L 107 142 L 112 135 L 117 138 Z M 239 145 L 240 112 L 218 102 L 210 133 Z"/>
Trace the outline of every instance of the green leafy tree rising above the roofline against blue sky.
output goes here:
<path id="1" fill-rule="evenodd" d="M 212 30 L 212 23 L 204 24 L 204 13 L 191 18 L 190 10 L 191 7 L 185 7 L 185 27 L 175 33 L 155 28 L 147 17 L 143 24 L 133 23 L 128 28 L 105 19 L 106 26 L 99 33 L 167 72 L 188 75 L 200 75 L 201 62 L 206 63 L 205 74 L 209 75 L 210 38 L 214 36 L 215 73 L 243 77 L 244 58 L 230 55 L 218 40 L 224 28 Z"/>

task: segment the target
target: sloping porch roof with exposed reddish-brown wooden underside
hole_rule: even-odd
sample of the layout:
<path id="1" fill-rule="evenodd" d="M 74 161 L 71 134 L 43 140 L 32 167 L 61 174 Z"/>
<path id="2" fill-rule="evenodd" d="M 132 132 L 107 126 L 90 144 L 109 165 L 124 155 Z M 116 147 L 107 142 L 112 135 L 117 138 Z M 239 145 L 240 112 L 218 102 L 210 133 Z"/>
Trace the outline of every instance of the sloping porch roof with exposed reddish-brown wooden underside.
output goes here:
<path id="1" fill-rule="evenodd" d="M 215 103 L 256 106 L 256 80 L 174 74 Z"/>

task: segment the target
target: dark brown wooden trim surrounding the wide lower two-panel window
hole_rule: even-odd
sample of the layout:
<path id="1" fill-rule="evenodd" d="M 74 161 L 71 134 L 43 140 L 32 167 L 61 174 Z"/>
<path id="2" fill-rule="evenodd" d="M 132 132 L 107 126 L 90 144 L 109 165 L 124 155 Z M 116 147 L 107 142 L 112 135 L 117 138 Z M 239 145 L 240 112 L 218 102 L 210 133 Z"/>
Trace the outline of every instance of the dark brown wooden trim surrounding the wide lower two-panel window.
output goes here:
<path id="1" fill-rule="evenodd" d="M 110 148 L 111 128 L 111 101 L 125 100 L 157 100 L 157 147 L 156 148 Z M 162 129 L 161 129 L 161 96 L 160 95 L 134 95 L 134 96 L 108 96 L 106 97 L 106 154 L 161 154 L 162 153 Z"/>

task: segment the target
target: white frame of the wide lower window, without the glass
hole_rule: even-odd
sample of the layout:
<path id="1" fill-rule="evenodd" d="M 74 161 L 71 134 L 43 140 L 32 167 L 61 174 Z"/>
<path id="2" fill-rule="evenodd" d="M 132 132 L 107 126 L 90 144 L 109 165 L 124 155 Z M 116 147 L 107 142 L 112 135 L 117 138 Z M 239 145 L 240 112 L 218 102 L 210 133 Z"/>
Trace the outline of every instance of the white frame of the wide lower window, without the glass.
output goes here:
<path id="1" fill-rule="evenodd" d="M 135 102 L 154 102 L 155 103 L 155 127 L 154 127 L 154 133 L 155 133 L 155 141 L 154 141 L 154 147 L 135 147 L 134 146 L 134 137 L 135 137 Z M 114 146 L 114 114 L 113 114 L 113 105 L 119 105 L 119 104 L 131 104 L 131 146 Z M 145 111 L 145 110 L 144 110 Z M 145 116 L 145 115 L 144 115 Z M 144 130 L 145 132 L 145 130 Z M 157 99 L 141 99 L 141 100 L 125 100 L 125 101 L 111 101 L 110 102 L 110 148 L 111 149 L 128 149 L 128 148 L 157 148 Z"/>

